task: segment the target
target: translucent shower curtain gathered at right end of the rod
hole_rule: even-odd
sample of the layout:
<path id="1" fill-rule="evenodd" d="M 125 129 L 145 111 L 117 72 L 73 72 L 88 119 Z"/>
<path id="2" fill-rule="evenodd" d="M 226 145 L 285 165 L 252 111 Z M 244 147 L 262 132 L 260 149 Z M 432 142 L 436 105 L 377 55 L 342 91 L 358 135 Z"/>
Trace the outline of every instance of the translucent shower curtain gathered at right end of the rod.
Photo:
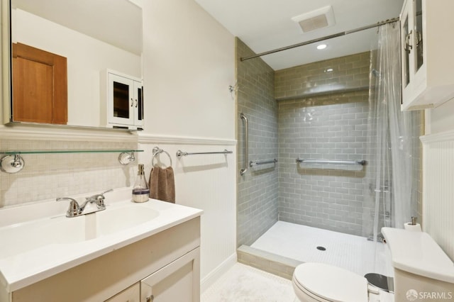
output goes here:
<path id="1" fill-rule="evenodd" d="M 383 226 L 403 228 L 416 212 L 413 111 L 402 112 L 399 25 L 380 26 L 371 52 L 368 138 L 370 161 L 365 186 L 363 233 L 382 239 Z M 415 150 L 416 149 L 416 150 Z"/>

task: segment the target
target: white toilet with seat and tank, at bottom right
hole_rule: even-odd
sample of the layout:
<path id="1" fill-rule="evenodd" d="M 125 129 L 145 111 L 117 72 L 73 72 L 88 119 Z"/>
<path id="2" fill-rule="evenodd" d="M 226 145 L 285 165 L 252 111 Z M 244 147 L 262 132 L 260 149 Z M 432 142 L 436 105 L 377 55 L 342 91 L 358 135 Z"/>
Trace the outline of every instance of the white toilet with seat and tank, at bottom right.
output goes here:
<path id="1" fill-rule="evenodd" d="M 454 263 L 430 235 L 397 228 L 382 228 L 382 234 L 394 268 L 394 301 L 454 298 Z M 367 279 L 329 264 L 299 264 L 292 284 L 301 302 L 369 301 Z"/>

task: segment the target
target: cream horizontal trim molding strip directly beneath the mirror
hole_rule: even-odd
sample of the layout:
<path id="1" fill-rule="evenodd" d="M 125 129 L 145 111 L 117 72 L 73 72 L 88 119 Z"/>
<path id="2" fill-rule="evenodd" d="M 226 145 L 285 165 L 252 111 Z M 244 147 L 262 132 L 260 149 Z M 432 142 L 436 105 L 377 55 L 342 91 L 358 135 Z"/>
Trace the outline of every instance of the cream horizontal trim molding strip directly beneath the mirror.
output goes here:
<path id="1" fill-rule="evenodd" d="M 82 142 L 135 142 L 138 135 L 128 131 L 79 130 L 79 129 L 46 129 L 28 127 L 0 128 L 1 140 L 61 140 Z"/>

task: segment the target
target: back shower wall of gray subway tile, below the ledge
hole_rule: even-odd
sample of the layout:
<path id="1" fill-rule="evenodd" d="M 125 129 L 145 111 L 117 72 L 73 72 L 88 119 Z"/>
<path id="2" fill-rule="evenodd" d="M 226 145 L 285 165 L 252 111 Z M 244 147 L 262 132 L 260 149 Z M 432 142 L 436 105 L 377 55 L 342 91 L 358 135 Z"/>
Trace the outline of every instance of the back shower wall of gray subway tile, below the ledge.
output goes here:
<path id="1" fill-rule="evenodd" d="M 298 164 L 296 159 L 365 160 L 367 91 L 279 102 L 279 220 L 362 233 L 362 166 Z"/>

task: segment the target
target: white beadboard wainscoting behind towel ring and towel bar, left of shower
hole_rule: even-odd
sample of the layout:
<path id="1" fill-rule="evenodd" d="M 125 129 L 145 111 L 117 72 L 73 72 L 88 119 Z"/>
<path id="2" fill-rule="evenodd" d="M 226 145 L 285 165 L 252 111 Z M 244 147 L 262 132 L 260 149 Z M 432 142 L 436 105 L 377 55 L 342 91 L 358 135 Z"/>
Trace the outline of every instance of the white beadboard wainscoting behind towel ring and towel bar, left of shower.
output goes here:
<path id="1" fill-rule="evenodd" d="M 138 163 L 145 164 L 150 176 L 153 148 L 160 147 L 172 157 L 176 203 L 204 211 L 201 216 L 201 291 L 236 263 L 236 140 L 139 135 Z M 183 152 L 231 154 L 187 155 Z M 168 167 L 162 152 L 154 164 Z"/>

